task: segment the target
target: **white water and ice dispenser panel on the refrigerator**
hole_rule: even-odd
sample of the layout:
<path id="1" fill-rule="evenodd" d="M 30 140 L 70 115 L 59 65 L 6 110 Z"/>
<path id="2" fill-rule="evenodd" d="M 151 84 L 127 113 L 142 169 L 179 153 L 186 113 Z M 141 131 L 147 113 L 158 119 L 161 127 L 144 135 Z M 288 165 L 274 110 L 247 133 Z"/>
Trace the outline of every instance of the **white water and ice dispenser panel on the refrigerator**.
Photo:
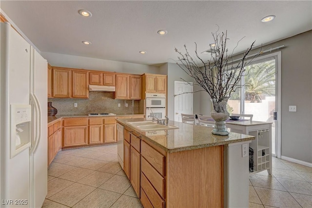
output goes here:
<path id="1" fill-rule="evenodd" d="M 31 145 L 31 105 L 11 104 L 10 158 Z"/>

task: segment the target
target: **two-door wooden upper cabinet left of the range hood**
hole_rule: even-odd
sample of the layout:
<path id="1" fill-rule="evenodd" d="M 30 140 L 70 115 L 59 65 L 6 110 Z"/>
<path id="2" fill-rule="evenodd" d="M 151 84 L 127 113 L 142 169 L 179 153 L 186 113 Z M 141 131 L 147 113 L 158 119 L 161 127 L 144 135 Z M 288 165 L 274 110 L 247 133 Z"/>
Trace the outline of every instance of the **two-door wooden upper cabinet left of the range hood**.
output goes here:
<path id="1" fill-rule="evenodd" d="M 89 97 L 88 71 L 52 67 L 53 97 Z"/>

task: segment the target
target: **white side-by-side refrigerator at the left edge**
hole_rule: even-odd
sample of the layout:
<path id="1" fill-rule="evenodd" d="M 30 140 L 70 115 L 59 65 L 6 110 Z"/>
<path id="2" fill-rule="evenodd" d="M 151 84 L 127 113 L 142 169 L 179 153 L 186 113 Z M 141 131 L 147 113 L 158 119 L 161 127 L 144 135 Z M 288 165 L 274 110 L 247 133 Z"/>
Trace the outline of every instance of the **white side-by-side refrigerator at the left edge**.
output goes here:
<path id="1" fill-rule="evenodd" d="M 0 207 L 40 208 L 47 194 L 47 61 L 0 23 Z"/>

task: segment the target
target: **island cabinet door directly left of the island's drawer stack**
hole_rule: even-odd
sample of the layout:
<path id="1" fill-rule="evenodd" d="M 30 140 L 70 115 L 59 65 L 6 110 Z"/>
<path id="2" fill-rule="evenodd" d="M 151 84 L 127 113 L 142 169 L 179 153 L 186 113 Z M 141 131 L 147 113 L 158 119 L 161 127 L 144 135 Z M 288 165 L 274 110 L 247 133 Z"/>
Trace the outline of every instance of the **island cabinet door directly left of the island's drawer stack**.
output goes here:
<path id="1" fill-rule="evenodd" d="M 137 196 L 140 195 L 141 157 L 140 153 L 132 146 L 130 148 L 130 182 Z"/>

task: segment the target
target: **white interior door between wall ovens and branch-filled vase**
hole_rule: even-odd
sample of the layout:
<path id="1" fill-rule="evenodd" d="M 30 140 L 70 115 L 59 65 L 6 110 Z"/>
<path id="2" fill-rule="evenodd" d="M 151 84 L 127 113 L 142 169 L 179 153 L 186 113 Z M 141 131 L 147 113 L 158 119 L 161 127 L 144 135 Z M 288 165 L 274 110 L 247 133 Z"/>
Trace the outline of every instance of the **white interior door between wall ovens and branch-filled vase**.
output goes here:
<path id="1" fill-rule="evenodd" d="M 193 114 L 193 86 L 175 81 L 175 121 L 182 122 L 181 113 Z"/>

